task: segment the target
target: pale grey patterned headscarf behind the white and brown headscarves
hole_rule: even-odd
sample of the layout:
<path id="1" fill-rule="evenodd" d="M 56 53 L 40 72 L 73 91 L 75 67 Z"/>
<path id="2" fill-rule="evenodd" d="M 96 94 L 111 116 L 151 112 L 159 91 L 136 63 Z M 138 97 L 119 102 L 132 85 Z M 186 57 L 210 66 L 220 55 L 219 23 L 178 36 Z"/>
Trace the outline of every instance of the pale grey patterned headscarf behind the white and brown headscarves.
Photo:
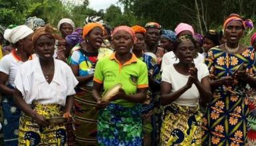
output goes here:
<path id="1" fill-rule="evenodd" d="M 41 18 L 37 17 L 29 17 L 25 23 L 27 27 L 31 28 L 33 31 L 39 27 L 44 27 L 45 26 L 45 21 Z"/>

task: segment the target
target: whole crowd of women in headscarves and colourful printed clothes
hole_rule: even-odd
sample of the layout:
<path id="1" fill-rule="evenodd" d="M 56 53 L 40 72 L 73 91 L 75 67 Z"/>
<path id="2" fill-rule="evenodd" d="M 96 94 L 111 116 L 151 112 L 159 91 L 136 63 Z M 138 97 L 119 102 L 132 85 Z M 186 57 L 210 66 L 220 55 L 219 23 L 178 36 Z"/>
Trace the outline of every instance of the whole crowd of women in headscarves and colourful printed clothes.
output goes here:
<path id="1" fill-rule="evenodd" d="M 0 32 L 4 145 L 256 145 L 256 34 L 239 44 L 251 21 L 231 14 L 204 36 L 85 23 L 62 19 L 58 35 L 31 17 Z"/>

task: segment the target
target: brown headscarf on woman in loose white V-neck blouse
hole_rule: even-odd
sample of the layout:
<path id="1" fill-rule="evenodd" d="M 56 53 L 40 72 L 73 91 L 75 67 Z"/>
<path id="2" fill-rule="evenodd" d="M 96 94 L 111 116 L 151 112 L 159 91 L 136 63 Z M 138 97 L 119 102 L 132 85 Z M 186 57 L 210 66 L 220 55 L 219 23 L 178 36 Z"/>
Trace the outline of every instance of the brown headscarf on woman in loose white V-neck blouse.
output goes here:
<path id="1" fill-rule="evenodd" d="M 51 25 L 47 24 L 45 25 L 45 27 L 40 27 L 35 31 L 35 33 L 33 33 L 32 41 L 35 44 L 38 38 L 43 35 L 50 35 L 50 36 L 53 36 L 53 38 L 61 39 L 61 38 L 58 38 L 56 31 L 57 30 L 54 29 Z"/>

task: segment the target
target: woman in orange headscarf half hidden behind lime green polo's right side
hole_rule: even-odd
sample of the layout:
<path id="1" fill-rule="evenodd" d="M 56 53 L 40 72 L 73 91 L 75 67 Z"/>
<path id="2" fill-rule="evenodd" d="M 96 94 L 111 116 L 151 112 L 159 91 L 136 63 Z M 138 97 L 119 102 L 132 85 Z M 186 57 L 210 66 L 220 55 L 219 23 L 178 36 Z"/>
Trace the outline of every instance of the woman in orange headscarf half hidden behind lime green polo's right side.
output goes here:
<path id="1" fill-rule="evenodd" d="M 146 63 L 148 68 L 148 82 L 149 88 L 147 90 L 147 99 L 142 105 L 142 124 L 143 124 L 143 145 L 156 145 L 156 132 L 158 121 L 155 119 L 155 108 L 158 108 L 156 96 L 160 91 L 160 69 L 156 60 L 147 54 L 143 54 L 143 50 L 146 47 L 144 36 L 146 35 L 146 29 L 138 25 L 131 27 L 134 31 L 137 41 L 134 43 L 132 52 L 137 58 Z"/>

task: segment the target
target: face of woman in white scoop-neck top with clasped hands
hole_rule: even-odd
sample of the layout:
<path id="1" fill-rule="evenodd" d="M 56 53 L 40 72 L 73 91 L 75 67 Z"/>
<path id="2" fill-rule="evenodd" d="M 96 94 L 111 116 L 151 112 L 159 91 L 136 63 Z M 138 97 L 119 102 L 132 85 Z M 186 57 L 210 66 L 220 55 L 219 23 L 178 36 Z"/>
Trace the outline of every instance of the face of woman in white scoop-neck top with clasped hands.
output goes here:
<path id="1" fill-rule="evenodd" d="M 183 62 L 185 64 L 190 64 L 193 62 L 193 58 L 195 58 L 195 53 L 195 45 L 191 40 L 178 44 L 175 51 L 175 54 L 177 58 L 180 59 L 180 62 Z"/>

